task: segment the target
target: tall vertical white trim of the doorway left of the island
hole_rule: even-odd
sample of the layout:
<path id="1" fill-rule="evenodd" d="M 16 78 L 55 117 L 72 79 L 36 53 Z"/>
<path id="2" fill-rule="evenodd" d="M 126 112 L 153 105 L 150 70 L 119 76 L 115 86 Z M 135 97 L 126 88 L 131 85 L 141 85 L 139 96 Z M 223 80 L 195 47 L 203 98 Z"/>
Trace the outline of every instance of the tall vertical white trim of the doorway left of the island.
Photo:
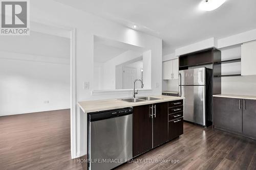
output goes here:
<path id="1" fill-rule="evenodd" d="M 70 137 L 71 137 L 71 158 L 77 157 L 76 154 L 76 29 L 70 32 Z"/>

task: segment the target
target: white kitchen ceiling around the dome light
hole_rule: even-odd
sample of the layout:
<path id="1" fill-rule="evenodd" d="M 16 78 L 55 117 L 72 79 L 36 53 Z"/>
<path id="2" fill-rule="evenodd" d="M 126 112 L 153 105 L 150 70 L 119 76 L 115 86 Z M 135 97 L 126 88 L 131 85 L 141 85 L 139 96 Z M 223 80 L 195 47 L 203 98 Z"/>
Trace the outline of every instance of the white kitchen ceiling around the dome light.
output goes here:
<path id="1" fill-rule="evenodd" d="M 223 38 L 256 28 L 255 0 L 227 0 L 205 12 L 201 0 L 54 0 L 163 39 L 163 54 L 210 37 Z"/>

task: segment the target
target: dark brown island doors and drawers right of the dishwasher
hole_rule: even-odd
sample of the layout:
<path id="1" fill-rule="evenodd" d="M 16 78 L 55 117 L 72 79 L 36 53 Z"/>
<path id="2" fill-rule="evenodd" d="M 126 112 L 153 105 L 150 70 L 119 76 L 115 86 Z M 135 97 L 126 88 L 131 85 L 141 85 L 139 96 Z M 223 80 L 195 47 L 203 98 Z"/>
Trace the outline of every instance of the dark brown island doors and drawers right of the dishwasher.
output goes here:
<path id="1" fill-rule="evenodd" d="M 183 100 L 133 108 L 133 157 L 183 134 L 183 111 L 169 111 L 176 107 L 183 110 Z"/>

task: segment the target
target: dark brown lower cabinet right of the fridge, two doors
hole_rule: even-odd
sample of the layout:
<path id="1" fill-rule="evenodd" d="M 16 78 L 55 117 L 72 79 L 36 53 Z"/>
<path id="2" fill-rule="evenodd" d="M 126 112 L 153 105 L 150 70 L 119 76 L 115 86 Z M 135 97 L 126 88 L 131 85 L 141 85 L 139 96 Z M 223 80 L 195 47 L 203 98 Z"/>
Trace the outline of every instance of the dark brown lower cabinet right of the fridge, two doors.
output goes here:
<path id="1" fill-rule="evenodd" d="M 256 139 L 256 100 L 214 97 L 214 127 Z"/>

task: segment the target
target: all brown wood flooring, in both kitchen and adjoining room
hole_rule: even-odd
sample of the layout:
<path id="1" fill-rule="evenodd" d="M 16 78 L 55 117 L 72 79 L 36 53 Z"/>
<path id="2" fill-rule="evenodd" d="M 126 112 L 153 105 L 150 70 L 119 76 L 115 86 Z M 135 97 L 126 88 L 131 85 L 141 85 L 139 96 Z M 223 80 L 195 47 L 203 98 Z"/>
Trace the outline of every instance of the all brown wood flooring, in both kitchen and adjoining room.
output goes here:
<path id="1" fill-rule="evenodd" d="M 184 123 L 180 138 L 133 161 L 117 169 L 256 169 L 256 141 Z M 70 110 L 0 117 L 0 169 L 87 169 L 70 156 Z"/>

